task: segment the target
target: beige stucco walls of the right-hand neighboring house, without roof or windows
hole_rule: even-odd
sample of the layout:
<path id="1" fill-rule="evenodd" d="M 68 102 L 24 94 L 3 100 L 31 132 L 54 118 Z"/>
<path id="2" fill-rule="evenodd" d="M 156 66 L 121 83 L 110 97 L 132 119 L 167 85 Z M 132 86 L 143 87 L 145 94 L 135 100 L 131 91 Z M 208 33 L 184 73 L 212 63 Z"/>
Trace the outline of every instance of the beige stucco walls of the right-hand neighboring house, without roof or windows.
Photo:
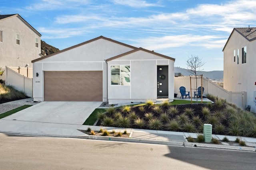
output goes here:
<path id="1" fill-rule="evenodd" d="M 247 49 L 246 63 L 242 64 L 242 47 Z M 256 91 L 256 40 L 248 41 L 234 31 L 224 49 L 224 89 L 233 92 L 247 92 L 247 105 L 256 113 L 254 91 Z M 239 64 L 234 62 L 234 50 L 239 49 Z"/>

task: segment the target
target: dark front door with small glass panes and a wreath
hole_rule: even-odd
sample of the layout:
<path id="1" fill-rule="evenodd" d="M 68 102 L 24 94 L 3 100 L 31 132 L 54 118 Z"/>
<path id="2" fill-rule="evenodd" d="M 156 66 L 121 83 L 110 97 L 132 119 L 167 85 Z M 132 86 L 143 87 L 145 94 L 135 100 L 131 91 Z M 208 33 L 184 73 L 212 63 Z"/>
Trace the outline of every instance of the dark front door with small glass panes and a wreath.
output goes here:
<path id="1" fill-rule="evenodd" d="M 157 96 L 168 97 L 168 66 L 157 66 Z"/>

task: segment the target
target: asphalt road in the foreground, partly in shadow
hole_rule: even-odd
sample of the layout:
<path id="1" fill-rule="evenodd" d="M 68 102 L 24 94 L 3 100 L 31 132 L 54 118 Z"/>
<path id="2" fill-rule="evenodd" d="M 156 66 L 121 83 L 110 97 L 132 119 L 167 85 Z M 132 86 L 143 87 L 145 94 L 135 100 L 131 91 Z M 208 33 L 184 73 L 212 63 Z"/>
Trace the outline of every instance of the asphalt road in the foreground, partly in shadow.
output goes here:
<path id="1" fill-rule="evenodd" d="M 200 170 L 256 167 L 256 153 L 0 134 L 0 169 Z"/>

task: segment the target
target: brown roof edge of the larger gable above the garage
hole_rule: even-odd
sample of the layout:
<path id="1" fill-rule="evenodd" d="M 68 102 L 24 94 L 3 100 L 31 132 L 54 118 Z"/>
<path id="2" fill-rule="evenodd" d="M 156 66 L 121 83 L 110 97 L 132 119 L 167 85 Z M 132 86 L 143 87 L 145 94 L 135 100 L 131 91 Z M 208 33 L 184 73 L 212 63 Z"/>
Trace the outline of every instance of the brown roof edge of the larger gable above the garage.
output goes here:
<path id="1" fill-rule="evenodd" d="M 80 43 L 80 44 L 78 44 L 78 45 L 74 45 L 74 46 L 72 46 L 72 47 L 68 47 L 68 48 L 63 49 L 63 50 L 61 50 L 61 51 L 58 51 L 58 52 L 56 52 L 56 53 L 52 53 L 52 54 L 50 54 L 50 55 L 46 55 L 46 56 L 44 56 L 44 57 L 41 57 L 41 58 L 32 60 L 32 63 L 34 63 L 34 62 L 36 62 L 36 61 L 40 61 L 40 60 L 42 60 L 42 59 L 46 59 L 46 58 L 48 58 L 48 57 L 51 57 L 51 56 L 56 55 L 56 54 L 59 54 L 59 53 L 63 53 L 64 51 L 68 51 L 68 50 L 70 50 L 70 49 L 74 49 L 74 48 L 76 48 L 76 47 L 79 47 L 79 46 L 81 46 L 81 45 L 90 43 L 90 42 L 92 42 L 92 41 L 96 41 L 96 40 L 98 40 L 98 39 L 106 39 L 106 40 L 111 41 L 111 42 L 113 42 L 113 43 L 118 43 L 118 44 L 120 44 L 120 45 L 124 45 L 124 46 L 126 46 L 126 47 L 130 47 L 130 48 L 132 48 L 132 49 L 138 49 L 137 47 L 134 47 L 134 46 L 131 46 L 131 45 L 128 45 L 128 44 L 125 44 L 125 43 L 121 43 L 121 42 L 119 42 L 119 41 L 115 41 L 115 40 L 110 39 L 110 38 L 106 38 L 106 37 L 100 36 L 100 37 L 96 37 L 96 38 L 94 38 L 94 39 L 85 41 L 85 42 L 83 42 L 83 43 Z"/>

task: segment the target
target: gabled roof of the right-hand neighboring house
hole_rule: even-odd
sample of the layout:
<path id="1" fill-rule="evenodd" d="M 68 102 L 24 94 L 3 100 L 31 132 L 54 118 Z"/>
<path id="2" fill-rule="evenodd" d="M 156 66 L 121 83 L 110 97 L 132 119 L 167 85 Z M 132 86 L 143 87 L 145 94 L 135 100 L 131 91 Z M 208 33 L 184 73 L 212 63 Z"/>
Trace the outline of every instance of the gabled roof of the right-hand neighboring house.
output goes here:
<path id="1" fill-rule="evenodd" d="M 240 35 L 242 35 L 248 41 L 254 41 L 256 39 L 256 27 L 247 27 L 247 28 L 234 28 L 232 33 L 228 37 L 228 41 L 231 35 L 234 33 L 234 31 L 237 31 Z M 222 51 L 224 51 L 226 45 L 228 44 L 228 41 L 226 42 Z"/>

